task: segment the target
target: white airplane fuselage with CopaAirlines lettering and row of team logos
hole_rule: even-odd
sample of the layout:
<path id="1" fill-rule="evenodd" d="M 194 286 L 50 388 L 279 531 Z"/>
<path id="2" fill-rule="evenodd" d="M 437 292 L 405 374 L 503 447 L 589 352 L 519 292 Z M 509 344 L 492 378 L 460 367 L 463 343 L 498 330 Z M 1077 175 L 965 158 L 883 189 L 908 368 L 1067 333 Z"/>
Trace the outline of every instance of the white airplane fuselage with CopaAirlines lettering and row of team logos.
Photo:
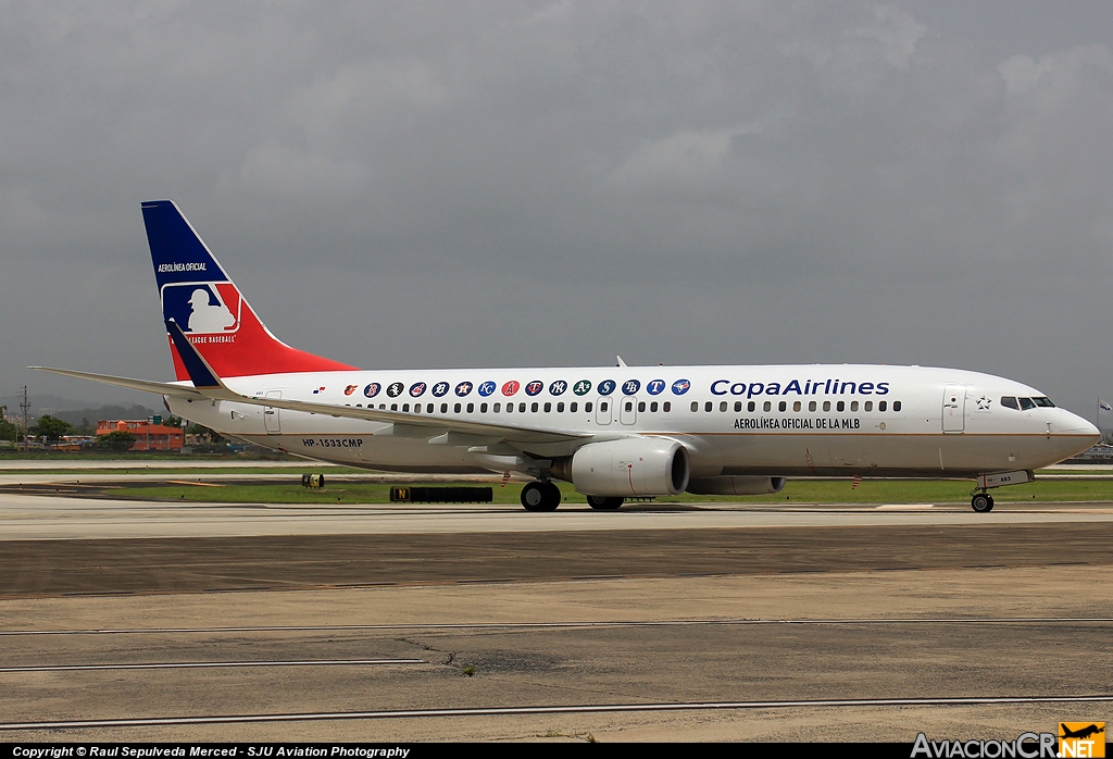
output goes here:
<path id="1" fill-rule="evenodd" d="M 1002 405 L 1003 397 L 1042 398 L 1033 387 L 918 366 L 353 369 L 225 382 L 259 397 L 589 435 L 520 446 L 545 457 L 572 455 L 592 442 L 666 436 L 688 450 L 693 477 L 968 477 L 1046 466 L 1099 440 L 1092 424 L 1066 410 Z M 500 469 L 476 446 L 436 444 L 436 433 L 420 427 L 228 401 L 167 401 L 175 414 L 221 434 L 322 461 L 412 472 Z"/>

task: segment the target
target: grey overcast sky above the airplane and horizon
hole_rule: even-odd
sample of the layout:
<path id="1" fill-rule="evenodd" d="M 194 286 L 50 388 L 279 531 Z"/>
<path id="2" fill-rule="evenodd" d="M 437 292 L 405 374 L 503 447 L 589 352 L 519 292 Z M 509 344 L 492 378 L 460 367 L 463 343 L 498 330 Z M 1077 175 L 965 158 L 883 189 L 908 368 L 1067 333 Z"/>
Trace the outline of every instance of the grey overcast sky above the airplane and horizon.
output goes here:
<path id="1" fill-rule="evenodd" d="M 1113 400 L 1107 2 L 0 2 L 0 396 L 171 378 L 139 203 L 365 367 Z"/>

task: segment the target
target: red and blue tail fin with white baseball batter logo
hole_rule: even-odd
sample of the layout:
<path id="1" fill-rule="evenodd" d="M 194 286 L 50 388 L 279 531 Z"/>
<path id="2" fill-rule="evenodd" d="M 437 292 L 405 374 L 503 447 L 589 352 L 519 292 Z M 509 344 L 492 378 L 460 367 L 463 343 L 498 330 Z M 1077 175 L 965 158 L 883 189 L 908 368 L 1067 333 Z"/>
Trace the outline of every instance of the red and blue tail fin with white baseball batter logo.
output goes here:
<path id="1" fill-rule="evenodd" d="M 142 211 L 162 300 L 162 318 L 181 327 L 218 375 L 355 368 L 292 348 L 270 334 L 174 203 L 144 203 Z M 169 335 L 167 342 L 175 375 L 188 379 Z"/>

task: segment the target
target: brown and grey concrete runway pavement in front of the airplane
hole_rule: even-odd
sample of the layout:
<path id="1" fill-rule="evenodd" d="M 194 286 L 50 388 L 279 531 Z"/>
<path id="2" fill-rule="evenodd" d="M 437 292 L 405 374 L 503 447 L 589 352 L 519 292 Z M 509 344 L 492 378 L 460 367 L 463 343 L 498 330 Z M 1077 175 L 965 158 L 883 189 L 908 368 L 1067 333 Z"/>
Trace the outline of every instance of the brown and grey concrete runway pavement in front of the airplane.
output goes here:
<path id="1" fill-rule="evenodd" d="M 0 740 L 1011 740 L 1109 716 L 1111 516 L 4 494 Z"/>

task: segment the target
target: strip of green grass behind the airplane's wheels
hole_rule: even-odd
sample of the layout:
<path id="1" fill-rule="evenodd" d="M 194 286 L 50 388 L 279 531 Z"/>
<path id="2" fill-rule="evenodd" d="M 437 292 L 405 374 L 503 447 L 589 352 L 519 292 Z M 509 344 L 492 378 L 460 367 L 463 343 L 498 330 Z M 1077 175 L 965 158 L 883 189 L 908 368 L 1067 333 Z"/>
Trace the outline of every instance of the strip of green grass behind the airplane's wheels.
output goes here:
<path id="1" fill-rule="evenodd" d="M 175 473 L 178 474 L 178 473 Z M 328 475 L 325 476 L 326 483 Z M 481 486 L 482 483 L 435 483 L 436 485 Z M 523 483 L 511 482 L 500 487 L 491 484 L 494 503 L 518 504 Z M 572 485 L 559 483 L 564 503 L 584 503 Z M 973 482 L 864 480 L 851 490 L 850 480 L 789 480 L 780 493 L 771 495 L 727 496 L 691 495 L 658 497 L 658 503 L 965 503 L 969 501 Z M 334 482 L 323 490 L 302 487 L 299 480 L 290 477 L 288 484 L 221 485 L 162 485 L 120 487 L 106 492 L 111 497 L 165 499 L 217 503 L 277 503 L 277 504 L 335 504 L 387 503 L 386 484 Z M 998 502 L 1040 503 L 1051 501 L 1113 501 L 1113 480 L 1054 480 L 1036 481 L 1025 485 L 999 487 L 992 491 Z M 1033 497 L 1034 496 L 1034 497 Z"/>

